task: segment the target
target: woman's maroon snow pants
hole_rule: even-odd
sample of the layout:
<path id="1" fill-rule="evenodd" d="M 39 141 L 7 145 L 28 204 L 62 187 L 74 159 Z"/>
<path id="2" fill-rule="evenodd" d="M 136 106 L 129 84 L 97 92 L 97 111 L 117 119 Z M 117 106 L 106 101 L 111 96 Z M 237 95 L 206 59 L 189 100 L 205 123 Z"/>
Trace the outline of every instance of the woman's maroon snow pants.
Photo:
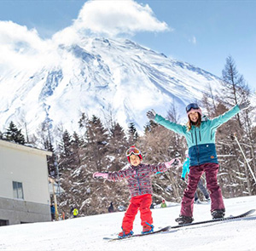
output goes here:
<path id="1" fill-rule="evenodd" d="M 194 195 L 198 181 L 203 173 L 206 173 L 207 190 L 210 191 L 212 201 L 211 212 L 216 209 L 224 209 L 224 201 L 217 181 L 218 167 L 219 165 L 217 163 L 205 163 L 189 168 L 188 186 L 183 192 L 180 215 L 193 216 Z"/>

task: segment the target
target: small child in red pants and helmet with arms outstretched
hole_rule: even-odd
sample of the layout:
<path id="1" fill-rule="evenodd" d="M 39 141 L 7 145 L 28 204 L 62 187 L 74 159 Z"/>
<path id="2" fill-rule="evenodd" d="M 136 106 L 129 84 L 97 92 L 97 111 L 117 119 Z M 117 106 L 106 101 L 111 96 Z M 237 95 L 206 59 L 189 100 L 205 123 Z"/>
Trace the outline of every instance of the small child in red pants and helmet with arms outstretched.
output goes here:
<path id="1" fill-rule="evenodd" d="M 158 165 L 150 165 L 142 163 L 143 157 L 141 151 L 135 145 L 132 145 L 126 151 L 126 157 L 131 165 L 128 168 L 113 173 L 95 173 L 93 177 L 102 177 L 111 181 L 119 181 L 126 179 L 128 188 L 131 192 L 130 205 L 125 212 L 122 223 L 122 230 L 119 238 L 131 236 L 133 234 L 133 221 L 137 211 L 141 213 L 141 224 L 143 225 L 142 233 L 154 231 L 152 212 L 150 205 L 152 203 L 152 184 L 151 174 L 157 172 L 166 172 L 168 168 L 180 165 L 178 159 L 174 159 L 168 163 L 160 163 Z"/>

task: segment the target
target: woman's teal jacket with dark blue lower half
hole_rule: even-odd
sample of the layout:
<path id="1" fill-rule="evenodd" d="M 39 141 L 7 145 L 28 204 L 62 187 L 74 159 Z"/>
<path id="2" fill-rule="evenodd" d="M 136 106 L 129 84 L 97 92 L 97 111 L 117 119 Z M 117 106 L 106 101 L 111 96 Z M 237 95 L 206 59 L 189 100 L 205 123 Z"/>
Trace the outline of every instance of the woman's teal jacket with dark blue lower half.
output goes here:
<path id="1" fill-rule="evenodd" d="M 201 165 L 203 163 L 218 163 L 215 134 L 217 128 L 223 123 L 234 117 L 240 111 L 238 105 L 226 111 L 224 114 L 213 119 L 202 119 L 201 126 L 196 128 L 192 126 L 190 130 L 186 125 L 172 123 L 160 115 L 156 115 L 154 121 L 160 125 L 171 129 L 177 134 L 182 134 L 189 147 L 189 162 L 191 166 Z"/>

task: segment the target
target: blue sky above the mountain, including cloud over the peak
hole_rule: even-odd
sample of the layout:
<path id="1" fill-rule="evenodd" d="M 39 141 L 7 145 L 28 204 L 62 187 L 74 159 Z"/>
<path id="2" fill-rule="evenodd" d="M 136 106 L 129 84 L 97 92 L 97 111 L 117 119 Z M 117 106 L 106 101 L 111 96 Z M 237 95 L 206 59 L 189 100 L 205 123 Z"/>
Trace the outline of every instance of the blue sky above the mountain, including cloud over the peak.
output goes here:
<path id="1" fill-rule="evenodd" d="M 0 20 L 11 20 L 28 31 L 35 29 L 43 41 L 67 27 L 85 26 L 99 36 L 127 37 L 218 77 L 231 55 L 239 73 L 251 88 L 256 88 L 253 0 L 1 0 Z M 2 22 L 2 37 L 4 29 L 8 26 Z"/>

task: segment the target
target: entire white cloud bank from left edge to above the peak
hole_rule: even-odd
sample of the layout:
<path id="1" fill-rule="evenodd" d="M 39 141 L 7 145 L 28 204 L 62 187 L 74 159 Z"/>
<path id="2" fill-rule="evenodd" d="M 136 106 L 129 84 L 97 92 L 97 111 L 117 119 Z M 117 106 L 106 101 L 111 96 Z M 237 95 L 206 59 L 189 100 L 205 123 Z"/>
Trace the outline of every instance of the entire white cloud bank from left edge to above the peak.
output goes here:
<path id="1" fill-rule="evenodd" d="M 140 31 L 170 31 L 166 22 L 160 22 L 146 4 L 133 0 L 96 1 L 84 3 L 73 25 L 58 31 L 51 39 L 42 39 L 36 29 L 27 29 L 12 21 L 0 21 L 0 61 L 1 67 L 15 66 L 21 69 L 35 68 L 44 61 L 55 64 L 60 60 L 57 46 L 79 43 L 84 35 L 134 35 Z"/>

